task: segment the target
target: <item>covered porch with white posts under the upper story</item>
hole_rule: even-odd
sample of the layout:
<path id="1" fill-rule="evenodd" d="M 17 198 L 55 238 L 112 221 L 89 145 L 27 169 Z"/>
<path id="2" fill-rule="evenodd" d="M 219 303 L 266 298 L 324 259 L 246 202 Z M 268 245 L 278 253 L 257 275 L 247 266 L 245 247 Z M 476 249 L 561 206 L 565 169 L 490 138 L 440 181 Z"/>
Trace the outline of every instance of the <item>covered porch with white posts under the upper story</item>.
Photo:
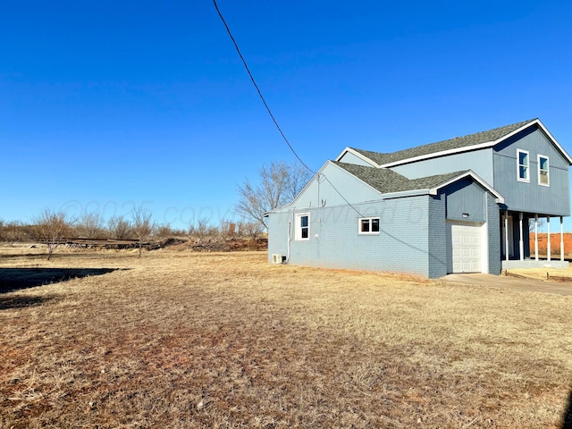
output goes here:
<path id="1" fill-rule="evenodd" d="M 546 223 L 547 233 L 546 255 L 543 258 L 539 256 L 538 229 L 541 222 Z M 554 227 L 554 223 L 558 223 L 558 225 Z M 559 231 L 557 242 L 551 242 L 551 232 L 553 232 L 551 228 Z M 557 249 L 559 250 L 559 257 L 554 257 L 553 251 Z M 531 257 L 531 255 L 534 256 Z M 502 269 L 542 268 L 546 266 L 566 268 L 568 261 L 564 259 L 564 255 L 563 216 L 510 210 L 501 211 Z"/>

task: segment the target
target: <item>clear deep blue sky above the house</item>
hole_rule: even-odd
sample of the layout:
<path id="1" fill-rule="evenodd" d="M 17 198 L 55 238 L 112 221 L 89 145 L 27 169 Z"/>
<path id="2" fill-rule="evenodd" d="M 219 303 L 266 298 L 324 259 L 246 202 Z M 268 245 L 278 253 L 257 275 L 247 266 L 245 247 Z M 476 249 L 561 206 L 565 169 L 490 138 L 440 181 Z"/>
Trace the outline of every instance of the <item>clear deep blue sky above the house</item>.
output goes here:
<path id="1" fill-rule="evenodd" d="M 315 170 L 535 117 L 572 152 L 569 0 L 217 3 Z M 3 1 L 0 148 L 0 218 L 24 222 L 143 204 L 218 223 L 294 159 L 210 0 Z"/>

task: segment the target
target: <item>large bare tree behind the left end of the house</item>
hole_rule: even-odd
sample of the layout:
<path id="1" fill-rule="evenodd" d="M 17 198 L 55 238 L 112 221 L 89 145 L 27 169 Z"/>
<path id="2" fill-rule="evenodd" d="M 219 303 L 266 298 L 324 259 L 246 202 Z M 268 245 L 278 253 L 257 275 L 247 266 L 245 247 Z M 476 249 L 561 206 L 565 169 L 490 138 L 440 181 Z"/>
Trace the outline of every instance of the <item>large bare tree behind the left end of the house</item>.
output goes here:
<path id="1" fill-rule="evenodd" d="M 273 161 L 258 170 L 259 183 L 248 179 L 239 186 L 236 211 L 248 222 L 260 223 L 265 229 L 264 214 L 292 201 L 306 186 L 310 173 L 299 164 Z"/>

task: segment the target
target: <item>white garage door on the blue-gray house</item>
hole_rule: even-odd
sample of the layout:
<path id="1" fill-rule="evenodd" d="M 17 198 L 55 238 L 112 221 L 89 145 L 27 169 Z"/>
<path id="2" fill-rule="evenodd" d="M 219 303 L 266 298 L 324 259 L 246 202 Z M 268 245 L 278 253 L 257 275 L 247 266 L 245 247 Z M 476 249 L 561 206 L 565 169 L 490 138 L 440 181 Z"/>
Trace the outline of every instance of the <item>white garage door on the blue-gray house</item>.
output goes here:
<path id="1" fill-rule="evenodd" d="M 481 273 L 481 223 L 447 223 L 447 272 Z"/>

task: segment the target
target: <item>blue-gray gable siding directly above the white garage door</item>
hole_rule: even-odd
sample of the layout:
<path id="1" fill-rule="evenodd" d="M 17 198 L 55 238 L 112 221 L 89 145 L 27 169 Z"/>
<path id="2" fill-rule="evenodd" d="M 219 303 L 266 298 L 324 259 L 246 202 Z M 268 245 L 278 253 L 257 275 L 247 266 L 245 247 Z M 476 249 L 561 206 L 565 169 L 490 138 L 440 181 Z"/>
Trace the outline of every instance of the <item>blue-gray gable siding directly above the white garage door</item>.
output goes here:
<path id="1" fill-rule="evenodd" d="M 450 184 L 442 192 L 447 194 L 447 219 L 453 221 L 486 221 L 485 196 L 488 192 L 470 179 Z M 464 217 L 467 214 L 468 217 Z"/>

